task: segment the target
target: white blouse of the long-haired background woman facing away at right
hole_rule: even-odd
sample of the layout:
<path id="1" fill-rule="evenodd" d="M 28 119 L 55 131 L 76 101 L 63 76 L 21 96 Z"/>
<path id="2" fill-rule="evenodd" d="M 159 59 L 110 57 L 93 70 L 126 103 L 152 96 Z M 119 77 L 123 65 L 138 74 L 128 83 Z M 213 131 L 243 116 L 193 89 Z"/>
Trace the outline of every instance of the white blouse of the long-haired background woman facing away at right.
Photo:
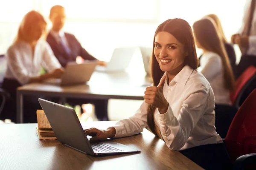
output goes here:
<path id="1" fill-rule="evenodd" d="M 231 105 L 230 91 L 225 88 L 221 57 L 213 52 L 206 52 L 200 59 L 201 73 L 209 81 L 216 104 Z"/>

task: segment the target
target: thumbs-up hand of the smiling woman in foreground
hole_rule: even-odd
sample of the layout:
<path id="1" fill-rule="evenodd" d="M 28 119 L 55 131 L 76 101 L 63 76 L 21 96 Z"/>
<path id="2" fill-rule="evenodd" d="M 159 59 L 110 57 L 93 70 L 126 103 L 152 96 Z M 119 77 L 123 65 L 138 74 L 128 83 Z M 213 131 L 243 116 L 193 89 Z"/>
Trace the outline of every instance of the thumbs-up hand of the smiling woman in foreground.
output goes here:
<path id="1" fill-rule="evenodd" d="M 166 113 L 168 110 L 169 103 L 163 96 L 163 85 L 166 79 L 166 75 L 164 75 L 161 79 L 159 84 L 156 86 L 150 86 L 146 88 L 144 92 L 144 99 L 145 102 L 158 108 L 160 114 Z"/>

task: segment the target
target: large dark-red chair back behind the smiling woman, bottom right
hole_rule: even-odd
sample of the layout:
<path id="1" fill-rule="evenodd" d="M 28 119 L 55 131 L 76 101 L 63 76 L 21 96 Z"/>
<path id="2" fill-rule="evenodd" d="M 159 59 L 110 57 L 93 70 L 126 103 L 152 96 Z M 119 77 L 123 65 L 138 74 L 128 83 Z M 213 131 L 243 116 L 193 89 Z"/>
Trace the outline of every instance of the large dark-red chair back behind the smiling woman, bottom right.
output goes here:
<path id="1" fill-rule="evenodd" d="M 237 111 L 225 143 L 233 161 L 244 154 L 256 153 L 256 89 Z"/>

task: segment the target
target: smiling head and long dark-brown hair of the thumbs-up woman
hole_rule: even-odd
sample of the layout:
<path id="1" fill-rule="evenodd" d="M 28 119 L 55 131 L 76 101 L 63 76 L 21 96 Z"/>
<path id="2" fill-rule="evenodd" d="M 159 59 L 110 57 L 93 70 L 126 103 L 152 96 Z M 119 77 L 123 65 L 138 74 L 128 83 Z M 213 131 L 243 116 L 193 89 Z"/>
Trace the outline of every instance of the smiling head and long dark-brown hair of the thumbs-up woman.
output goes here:
<path id="1" fill-rule="evenodd" d="M 159 85 L 164 72 L 169 85 L 185 65 L 189 65 L 192 69 L 198 67 L 193 33 L 185 20 L 169 19 L 160 24 L 154 34 L 153 49 L 151 74 L 154 86 Z M 148 106 L 148 122 L 150 122 L 148 126 L 154 134 L 160 136 L 154 123 L 155 108 L 157 107 Z"/>

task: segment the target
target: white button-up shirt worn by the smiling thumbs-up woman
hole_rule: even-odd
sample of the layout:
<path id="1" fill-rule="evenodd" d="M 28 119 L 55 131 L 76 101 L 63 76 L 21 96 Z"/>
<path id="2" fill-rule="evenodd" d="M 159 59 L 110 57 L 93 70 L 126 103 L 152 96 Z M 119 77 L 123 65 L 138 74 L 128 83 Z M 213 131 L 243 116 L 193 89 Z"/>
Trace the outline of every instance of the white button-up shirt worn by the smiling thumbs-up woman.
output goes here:
<path id="1" fill-rule="evenodd" d="M 164 114 L 156 109 L 154 121 L 170 150 L 222 143 L 214 126 L 212 88 L 200 72 L 186 65 L 169 85 L 165 82 L 163 94 L 169 108 Z M 148 104 L 143 102 L 134 116 L 117 122 L 113 126 L 116 129 L 115 138 L 142 132 L 148 126 L 147 110 Z"/>

